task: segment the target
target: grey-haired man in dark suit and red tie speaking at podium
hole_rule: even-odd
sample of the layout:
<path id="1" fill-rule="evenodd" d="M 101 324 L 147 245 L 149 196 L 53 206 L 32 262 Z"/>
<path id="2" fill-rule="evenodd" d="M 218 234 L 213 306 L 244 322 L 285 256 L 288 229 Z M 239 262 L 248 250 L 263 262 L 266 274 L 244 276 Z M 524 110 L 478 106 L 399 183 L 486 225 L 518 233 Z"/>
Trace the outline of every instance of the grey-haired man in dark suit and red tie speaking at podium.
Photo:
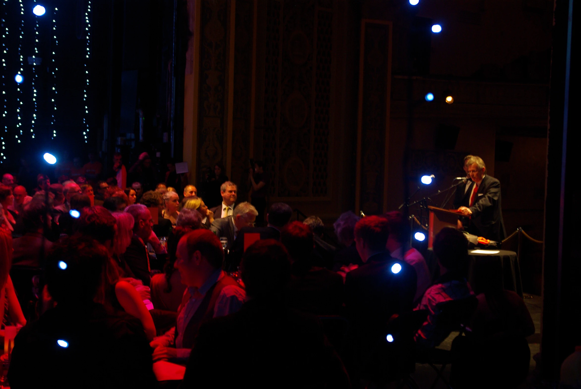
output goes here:
<path id="1" fill-rule="evenodd" d="M 486 174 L 482 158 L 474 156 L 467 162 L 472 185 L 468 207 L 458 210 L 470 217 L 468 232 L 500 242 L 506 236 L 500 201 L 500 181 Z"/>

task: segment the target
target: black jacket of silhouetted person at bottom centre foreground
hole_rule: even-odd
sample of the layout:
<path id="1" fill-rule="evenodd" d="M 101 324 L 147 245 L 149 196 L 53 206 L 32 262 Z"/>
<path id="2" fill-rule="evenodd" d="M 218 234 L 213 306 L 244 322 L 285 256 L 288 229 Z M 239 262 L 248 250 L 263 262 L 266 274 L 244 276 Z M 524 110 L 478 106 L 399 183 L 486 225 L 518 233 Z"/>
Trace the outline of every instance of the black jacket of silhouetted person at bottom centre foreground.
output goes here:
<path id="1" fill-rule="evenodd" d="M 224 334 L 236 334 L 239 353 L 227 368 L 224 353 L 232 350 L 232 337 Z M 322 388 L 329 376 L 341 376 L 331 368 L 337 366 L 333 355 L 314 316 L 287 309 L 282 301 L 250 300 L 235 314 L 200 327 L 180 388 Z"/>

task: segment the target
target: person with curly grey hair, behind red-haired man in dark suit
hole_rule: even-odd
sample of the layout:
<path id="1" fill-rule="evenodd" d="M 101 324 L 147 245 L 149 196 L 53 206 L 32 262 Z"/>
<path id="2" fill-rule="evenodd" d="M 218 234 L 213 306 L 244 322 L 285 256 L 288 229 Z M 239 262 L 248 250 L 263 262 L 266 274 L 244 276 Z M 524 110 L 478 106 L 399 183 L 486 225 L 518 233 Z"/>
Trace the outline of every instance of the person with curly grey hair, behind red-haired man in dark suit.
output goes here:
<path id="1" fill-rule="evenodd" d="M 345 278 L 345 274 L 352 269 L 357 269 L 358 266 L 363 265 L 361 257 L 357 252 L 355 246 L 355 238 L 353 231 L 355 225 L 360 217 L 353 213 L 353 211 L 343 212 L 333 224 L 335 235 L 339 239 L 339 243 L 343 244 L 343 248 L 339 248 L 335 253 L 335 260 L 333 260 L 333 271 L 338 272 Z"/>

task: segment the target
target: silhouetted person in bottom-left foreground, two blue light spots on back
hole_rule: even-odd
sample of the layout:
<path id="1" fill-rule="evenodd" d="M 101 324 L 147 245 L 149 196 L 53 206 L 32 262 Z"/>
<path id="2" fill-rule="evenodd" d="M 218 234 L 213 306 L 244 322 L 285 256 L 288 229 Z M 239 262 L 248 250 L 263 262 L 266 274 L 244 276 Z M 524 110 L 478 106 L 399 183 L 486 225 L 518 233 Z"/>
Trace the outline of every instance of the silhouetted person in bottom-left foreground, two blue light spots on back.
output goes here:
<path id="1" fill-rule="evenodd" d="M 66 239 L 51 253 L 46 283 L 58 304 L 16 336 L 8 373 L 12 387 L 57 382 L 63 388 L 80 383 L 94 388 L 157 386 L 139 320 L 93 301 L 107 259 L 106 248 L 85 237 Z"/>

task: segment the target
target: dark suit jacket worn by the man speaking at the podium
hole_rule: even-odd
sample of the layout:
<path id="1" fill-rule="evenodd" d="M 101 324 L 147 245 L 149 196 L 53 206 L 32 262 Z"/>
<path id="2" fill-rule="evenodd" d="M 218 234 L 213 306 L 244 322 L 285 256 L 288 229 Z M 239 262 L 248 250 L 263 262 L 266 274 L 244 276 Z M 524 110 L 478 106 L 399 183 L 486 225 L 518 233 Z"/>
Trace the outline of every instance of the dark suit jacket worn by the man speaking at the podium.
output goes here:
<path id="1" fill-rule="evenodd" d="M 500 242 L 507 235 L 500 201 L 500 181 L 485 175 L 480 182 L 468 232 Z"/>

